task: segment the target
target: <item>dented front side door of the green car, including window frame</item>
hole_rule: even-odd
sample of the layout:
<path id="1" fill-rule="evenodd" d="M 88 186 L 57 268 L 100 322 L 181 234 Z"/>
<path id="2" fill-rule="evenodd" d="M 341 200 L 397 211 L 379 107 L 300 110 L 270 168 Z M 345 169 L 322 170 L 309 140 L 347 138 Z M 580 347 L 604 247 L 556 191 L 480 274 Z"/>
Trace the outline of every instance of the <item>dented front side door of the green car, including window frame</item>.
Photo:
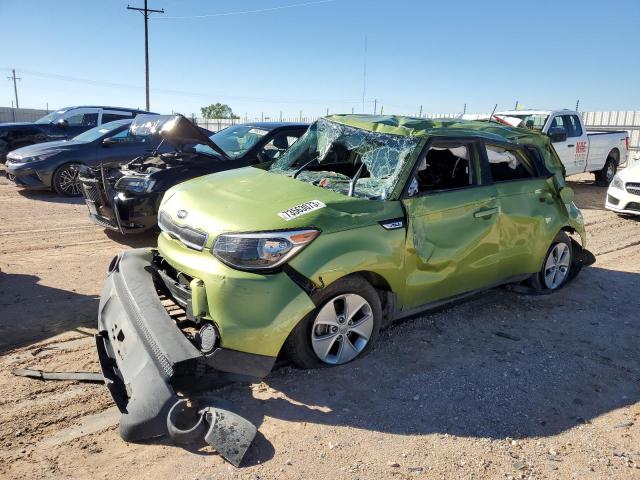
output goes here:
<path id="1" fill-rule="evenodd" d="M 407 213 L 403 308 L 493 285 L 498 278 L 495 186 L 480 170 L 481 144 L 436 140 L 418 160 Z"/>

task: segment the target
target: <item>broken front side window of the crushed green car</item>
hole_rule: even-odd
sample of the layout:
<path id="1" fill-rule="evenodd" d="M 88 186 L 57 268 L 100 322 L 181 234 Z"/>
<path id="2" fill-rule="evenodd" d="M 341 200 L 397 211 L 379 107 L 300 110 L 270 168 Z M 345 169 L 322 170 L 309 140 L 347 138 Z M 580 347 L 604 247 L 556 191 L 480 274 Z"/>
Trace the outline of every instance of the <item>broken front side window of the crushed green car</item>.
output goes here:
<path id="1" fill-rule="evenodd" d="M 471 144 L 434 144 L 418 162 L 415 176 L 409 184 L 409 196 L 476 184 Z"/>

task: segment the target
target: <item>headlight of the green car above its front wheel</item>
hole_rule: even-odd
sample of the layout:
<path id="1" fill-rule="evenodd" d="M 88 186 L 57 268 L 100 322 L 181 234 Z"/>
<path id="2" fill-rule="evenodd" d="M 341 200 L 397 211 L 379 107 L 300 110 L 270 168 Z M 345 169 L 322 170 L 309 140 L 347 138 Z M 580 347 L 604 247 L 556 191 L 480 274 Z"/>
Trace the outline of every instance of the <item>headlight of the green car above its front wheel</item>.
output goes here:
<path id="1" fill-rule="evenodd" d="M 212 252 L 239 270 L 268 270 L 290 260 L 318 235 L 320 231 L 315 229 L 222 234 Z"/>

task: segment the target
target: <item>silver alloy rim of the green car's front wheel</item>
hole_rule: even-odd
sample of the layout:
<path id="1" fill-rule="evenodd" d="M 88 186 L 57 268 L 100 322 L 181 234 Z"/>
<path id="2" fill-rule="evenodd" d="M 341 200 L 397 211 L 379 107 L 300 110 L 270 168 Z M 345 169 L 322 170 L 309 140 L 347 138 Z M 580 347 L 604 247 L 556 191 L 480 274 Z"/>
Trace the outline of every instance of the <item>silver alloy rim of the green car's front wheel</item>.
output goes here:
<path id="1" fill-rule="evenodd" d="M 373 311 L 367 300 L 355 293 L 338 295 L 318 312 L 311 328 L 311 346 L 325 363 L 347 363 L 367 346 L 373 326 Z"/>

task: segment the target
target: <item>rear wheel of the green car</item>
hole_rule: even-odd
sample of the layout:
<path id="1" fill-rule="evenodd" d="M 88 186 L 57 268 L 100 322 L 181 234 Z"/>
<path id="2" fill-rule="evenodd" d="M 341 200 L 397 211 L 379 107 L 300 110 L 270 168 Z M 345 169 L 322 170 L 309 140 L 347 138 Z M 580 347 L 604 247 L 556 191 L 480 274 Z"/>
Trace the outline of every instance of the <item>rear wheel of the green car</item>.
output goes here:
<path id="1" fill-rule="evenodd" d="M 565 232 L 559 232 L 547 250 L 542 268 L 530 280 L 531 287 L 539 292 L 558 290 L 569 279 L 572 261 L 571 239 Z"/>

